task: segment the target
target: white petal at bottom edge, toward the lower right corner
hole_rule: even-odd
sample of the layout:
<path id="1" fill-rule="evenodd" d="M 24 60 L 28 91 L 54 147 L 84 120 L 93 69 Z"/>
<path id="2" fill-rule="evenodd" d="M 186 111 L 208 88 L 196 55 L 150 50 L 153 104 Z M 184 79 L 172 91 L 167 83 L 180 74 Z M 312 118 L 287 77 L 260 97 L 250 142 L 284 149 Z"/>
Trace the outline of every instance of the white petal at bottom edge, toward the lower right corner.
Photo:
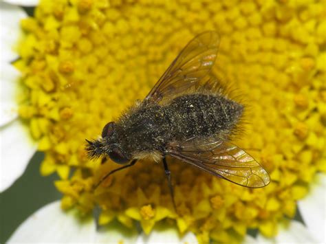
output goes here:
<path id="1" fill-rule="evenodd" d="M 291 221 L 290 225 L 286 228 L 280 226 L 279 234 L 272 239 L 268 239 L 265 236 L 258 234 L 256 238 L 252 236 L 246 236 L 243 243 L 248 244 L 272 244 L 272 243 L 318 243 L 314 236 L 305 228 L 301 222 Z"/>

